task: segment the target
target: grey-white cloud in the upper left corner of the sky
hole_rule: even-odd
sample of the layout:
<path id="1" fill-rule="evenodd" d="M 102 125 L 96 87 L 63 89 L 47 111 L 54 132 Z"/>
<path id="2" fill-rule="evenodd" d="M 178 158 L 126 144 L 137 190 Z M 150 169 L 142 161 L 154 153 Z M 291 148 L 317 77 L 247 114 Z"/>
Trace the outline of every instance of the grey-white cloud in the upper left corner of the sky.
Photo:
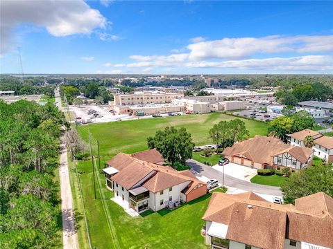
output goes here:
<path id="1" fill-rule="evenodd" d="M 0 1 L 1 53 L 15 47 L 12 30 L 19 24 L 42 26 L 53 36 L 89 35 L 95 28 L 105 28 L 107 21 L 99 10 L 83 0 L 72 1 Z"/>

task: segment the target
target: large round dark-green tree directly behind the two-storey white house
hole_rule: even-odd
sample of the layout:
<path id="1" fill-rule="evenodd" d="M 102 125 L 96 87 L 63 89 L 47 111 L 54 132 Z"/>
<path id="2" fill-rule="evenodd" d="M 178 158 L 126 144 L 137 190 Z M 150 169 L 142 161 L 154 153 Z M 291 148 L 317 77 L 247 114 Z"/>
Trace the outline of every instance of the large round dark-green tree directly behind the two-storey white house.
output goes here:
<path id="1" fill-rule="evenodd" d="M 167 127 L 164 131 L 156 131 L 155 137 L 148 137 L 147 142 L 149 149 L 156 148 L 172 166 L 175 163 L 186 165 L 186 160 L 192 157 L 194 149 L 191 133 L 183 127 Z"/>

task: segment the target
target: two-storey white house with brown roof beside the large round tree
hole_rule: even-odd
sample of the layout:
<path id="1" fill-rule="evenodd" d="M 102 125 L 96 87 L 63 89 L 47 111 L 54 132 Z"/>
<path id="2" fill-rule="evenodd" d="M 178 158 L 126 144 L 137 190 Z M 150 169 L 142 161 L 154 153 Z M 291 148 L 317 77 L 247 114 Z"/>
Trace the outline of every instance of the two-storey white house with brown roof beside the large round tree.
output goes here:
<path id="1" fill-rule="evenodd" d="M 125 210 L 139 213 L 174 208 L 203 196 L 207 184 L 189 170 L 178 172 L 168 166 L 156 149 L 135 154 L 119 153 L 103 169 L 106 186 L 114 191 L 114 201 Z"/>

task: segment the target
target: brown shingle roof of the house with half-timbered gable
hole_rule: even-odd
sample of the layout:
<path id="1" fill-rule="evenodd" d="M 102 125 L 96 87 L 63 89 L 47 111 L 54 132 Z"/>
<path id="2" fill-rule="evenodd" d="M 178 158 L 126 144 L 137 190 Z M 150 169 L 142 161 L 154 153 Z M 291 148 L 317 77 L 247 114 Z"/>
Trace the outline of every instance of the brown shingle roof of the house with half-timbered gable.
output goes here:
<path id="1" fill-rule="evenodd" d="M 294 158 L 306 163 L 312 149 L 287 145 L 278 138 L 255 136 L 243 142 L 237 142 L 223 151 L 225 156 L 246 156 L 256 163 L 273 165 L 273 156 L 290 153 Z"/>

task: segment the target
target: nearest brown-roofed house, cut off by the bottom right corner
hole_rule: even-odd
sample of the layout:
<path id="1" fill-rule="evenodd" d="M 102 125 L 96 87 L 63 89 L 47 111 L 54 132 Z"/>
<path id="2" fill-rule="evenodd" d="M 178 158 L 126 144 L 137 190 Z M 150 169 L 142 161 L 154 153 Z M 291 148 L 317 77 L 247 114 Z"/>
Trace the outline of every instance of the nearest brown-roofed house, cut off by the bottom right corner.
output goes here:
<path id="1" fill-rule="evenodd" d="M 211 248 L 333 248 L 333 199 L 323 192 L 295 205 L 269 203 L 252 192 L 215 192 L 203 220 Z"/>

